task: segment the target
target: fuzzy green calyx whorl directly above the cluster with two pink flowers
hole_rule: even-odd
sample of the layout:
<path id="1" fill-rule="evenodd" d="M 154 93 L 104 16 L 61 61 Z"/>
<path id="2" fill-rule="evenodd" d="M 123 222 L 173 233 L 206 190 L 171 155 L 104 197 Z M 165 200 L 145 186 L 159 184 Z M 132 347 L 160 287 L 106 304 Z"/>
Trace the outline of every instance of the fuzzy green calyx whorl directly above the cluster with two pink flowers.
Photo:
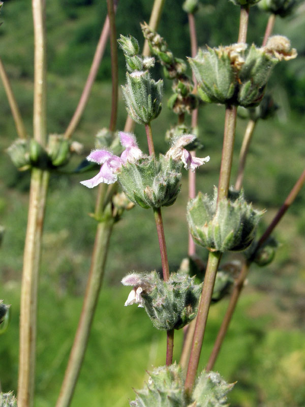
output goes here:
<path id="1" fill-rule="evenodd" d="M 163 80 L 150 79 L 148 71 L 127 72 L 126 76 L 122 89 L 130 117 L 139 124 L 156 119 L 162 109 Z"/>

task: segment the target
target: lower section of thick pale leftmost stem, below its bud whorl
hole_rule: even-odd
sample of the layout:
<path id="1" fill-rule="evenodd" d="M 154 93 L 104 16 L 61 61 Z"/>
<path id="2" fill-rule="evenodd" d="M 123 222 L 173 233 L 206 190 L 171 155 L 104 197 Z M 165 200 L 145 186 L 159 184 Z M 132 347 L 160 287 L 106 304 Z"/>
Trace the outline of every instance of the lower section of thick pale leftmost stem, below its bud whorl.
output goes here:
<path id="1" fill-rule="evenodd" d="M 41 241 L 49 172 L 33 168 L 20 298 L 18 406 L 31 407 L 34 399 L 36 321 Z"/>

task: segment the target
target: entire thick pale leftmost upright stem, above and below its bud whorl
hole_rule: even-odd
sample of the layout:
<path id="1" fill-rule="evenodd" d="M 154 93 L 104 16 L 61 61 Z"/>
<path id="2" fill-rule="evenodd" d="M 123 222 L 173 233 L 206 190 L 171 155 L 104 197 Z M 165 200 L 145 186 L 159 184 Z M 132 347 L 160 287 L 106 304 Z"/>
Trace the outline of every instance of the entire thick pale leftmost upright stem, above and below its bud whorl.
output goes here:
<path id="1" fill-rule="evenodd" d="M 33 0 L 34 20 L 34 138 L 46 144 L 45 1 Z M 34 401 L 38 274 L 49 172 L 33 168 L 29 192 L 20 299 L 18 406 Z"/>

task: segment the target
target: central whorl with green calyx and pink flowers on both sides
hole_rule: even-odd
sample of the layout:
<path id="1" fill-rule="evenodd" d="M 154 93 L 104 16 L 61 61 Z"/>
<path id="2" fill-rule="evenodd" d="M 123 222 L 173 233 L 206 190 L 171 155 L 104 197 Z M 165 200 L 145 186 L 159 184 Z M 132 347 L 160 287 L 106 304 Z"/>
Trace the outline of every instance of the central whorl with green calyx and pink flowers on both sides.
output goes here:
<path id="1" fill-rule="evenodd" d="M 118 181 L 126 196 L 142 208 L 172 205 L 180 191 L 182 165 L 194 171 L 209 160 L 193 157 L 184 148 L 195 138 L 192 134 L 175 138 L 166 155 L 157 158 L 143 155 L 134 134 L 119 132 L 123 153 L 118 157 L 109 150 L 94 150 L 87 160 L 101 164 L 100 172 L 81 184 L 93 188 Z"/>

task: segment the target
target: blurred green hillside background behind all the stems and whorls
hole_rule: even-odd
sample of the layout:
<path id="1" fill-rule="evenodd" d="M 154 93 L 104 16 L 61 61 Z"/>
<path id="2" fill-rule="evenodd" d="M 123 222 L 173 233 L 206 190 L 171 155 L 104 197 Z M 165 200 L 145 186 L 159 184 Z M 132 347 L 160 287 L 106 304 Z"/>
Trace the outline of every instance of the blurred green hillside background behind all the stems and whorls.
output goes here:
<path id="1" fill-rule="evenodd" d="M 182 2 L 166 0 L 160 34 L 178 57 L 190 55 L 187 15 Z M 143 43 L 139 22 L 149 19 L 151 0 L 120 0 L 117 33 L 131 34 Z M 227 0 L 201 2 L 196 16 L 198 43 L 204 46 L 235 42 L 238 8 Z M 53 0 L 47 2 L 48 35 L 48 132 L 63 133 L 69 124 L 86 79 L 106 16 L 106 2 Z M 260 44 L 268 16 L 251 8 L 249 42 Z M 0 56 L 12 81 L 26 129 L 32 133 L 33 23 L 31 2 L 7 0 L 2 9 Z M 260 230 L 272 219 L 304 167 L 305 111 L 305 8 L 285 20 L 277 20 L 275 34 L 284 34 L 298 50 L 298 58 L 279 64 L 268 91 L 281 106 L 276 118 L 257 125 L 247 161 L 245 193 L 260 209 L 267 209 Z M 94 147 L 94 136 L 108 126 L 110 113 L 110 51 L 106 49 L 98 80 L 75 132 L 85 146 Z M 155 71 L 162 75 L 161 69 Z M 125 63 L 119 52 L 119 78 L 124 83 Z M 171 83 L 165 81 L 165 99 Z M 0 298 L 11 304 L 11 324 L 0 336 L 0 380 L 4 391 L 16 392 L 18 372 L 18 323 L 20 277 L 25 236 L 29 173 L 19 172 L 5 153 L 16 138 L 5 92 L 0 85 L 0 224 L 6 228 L 0 250 Z M 176 117 L 164 108 L 153 122 L 158 151 L 166 151 L 165 131 Z M 119 94 L 117 129 L 126 119 Z M 189 120 L 189 119 L 188 119 Z M 198 171 L 198 189 L 212 192 L 218 183 L 222 148 L 224 107 L 208 105 L 200 110 L 199 138 L 202 155 L 211 160 Z M 232 183 L 246 121 L 238 120 Z M 146 149 L 144 129 L 136 126 L 139 144 Z M 74 158 L 69 169 L 82 160 Z M 36 406 L 54 405 L 82 303 L 94 242 L 96 190 L 79 181 L 86 175 L 54 173 L 50 181 L 43 237 L 39 292 Z M 233 407 L 301 407 L 305 405 L 305 211 L 301 191 L 276 230 L 281 246 L 267 268 L 253 267 L 238 304 L 226 342 L 216 364 L 226 380 L 237 384 L 230 394 Z M 187 175 L 175 205 L 165 208 L 165 235 L 170 268 L 177 270 L 187 255 Z M 198 249 L 203 259 L 205 250 Z M 225 259 L 236 257 L 228 255 Z M 237 255 L 238 257 L 238 255 Z M 132 387 L 142 387 L 145 370 L 165 363 L 165 334 L 153 329 L 142 309 L 125 308 L 128 288 L 120 279 L 129 271 L 160 269 L 161 260 L 153 215 L 141 208 L 126 213 L 115 225 L 111 238 L 105 282 L 90 334 L 73 407 L 120 407 L 133 398 Z M 227 300 L 213 306 L 202 352 L 207 360 Z M 175 335 L 178 360 L 182 332 Z"/>

